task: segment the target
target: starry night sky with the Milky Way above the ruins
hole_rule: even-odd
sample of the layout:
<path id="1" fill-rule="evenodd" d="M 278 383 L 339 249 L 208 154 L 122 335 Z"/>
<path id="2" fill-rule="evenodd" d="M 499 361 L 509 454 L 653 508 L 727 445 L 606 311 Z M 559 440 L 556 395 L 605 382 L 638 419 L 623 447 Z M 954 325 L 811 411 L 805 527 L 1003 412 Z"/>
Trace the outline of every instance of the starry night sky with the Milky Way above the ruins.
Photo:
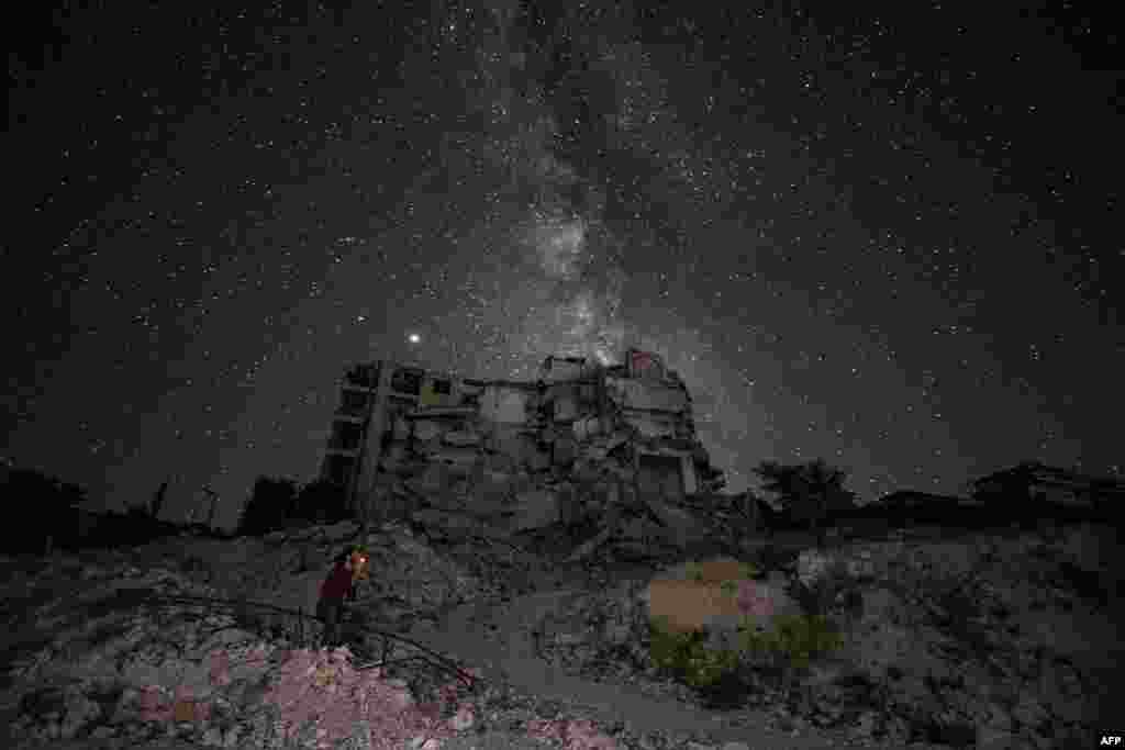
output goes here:
<path id="1" fill-rule="evenodd" d="M 1108 7 L 102 4 L 9 28 L 2 274 L 6 455 L 98 503 L 233 524 L 351 362 L 628 345 L 732 490 L 1125 464 Z"/>

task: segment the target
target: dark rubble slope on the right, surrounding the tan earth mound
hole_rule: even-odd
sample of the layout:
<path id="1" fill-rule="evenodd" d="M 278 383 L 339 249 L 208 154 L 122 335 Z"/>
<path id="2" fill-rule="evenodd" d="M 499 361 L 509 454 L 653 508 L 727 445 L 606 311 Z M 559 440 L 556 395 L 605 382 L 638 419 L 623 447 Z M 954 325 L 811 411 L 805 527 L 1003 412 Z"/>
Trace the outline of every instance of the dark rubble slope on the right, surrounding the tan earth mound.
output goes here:
<path id="1" fill-rule="evenodd" d="M 1070 527 L 1056 539 L 971 535 L 806 551 L 770 577 L 784 579 L 810 613 L 830 616 L 845 645 L 789 685 L 759 675 L 744 707 L 903 744 L 1088 742 L 1125 687 L 1117 647 L 1125 591 L 1115 582 L 1119 561 L 1090 557 L 1099 534 Z M 637 584 L 574 596 L 539 623 L 541 658 L 703 707 L 654 667 L 647 606 Z"/>

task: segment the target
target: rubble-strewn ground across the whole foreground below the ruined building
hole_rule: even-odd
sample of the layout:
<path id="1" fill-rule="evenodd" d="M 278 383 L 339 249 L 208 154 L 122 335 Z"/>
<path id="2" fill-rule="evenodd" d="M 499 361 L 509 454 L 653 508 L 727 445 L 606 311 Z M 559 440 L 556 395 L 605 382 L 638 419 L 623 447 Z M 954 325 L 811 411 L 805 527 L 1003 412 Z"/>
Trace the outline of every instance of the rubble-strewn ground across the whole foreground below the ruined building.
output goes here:
<path id="1" fill-rule="evenodd" d="M 348 625 L 351 666 L 397 660 L 388 675 L 425 706 L 459 670 L 484 676 L 487 687 L 462 696 L 472 729 L 450 734 L 450 748 L 472 733 L 578 747 L 529 730 L 568 720 L 620 748 L 1089 747 L 1125 688 L 1125 561 L 1110 526 L 919 528 L 825 550 L 699 543 L 646 559 L 621 527 L 577 555 L 588 539 L 498 544 L 412 522 L 366 536 L 341 523 L 4 558 L 6 723 L 24 747 L 278 747 L 261 720 L 266 686 L 281 654 L 315 645 L 317 587 L 357 541 L 372 575 Z M 784 677 L 752 670 L 723 696 L 662 670 L 649 615 L 676 602 L 656 585 L 690 588 L 688 563 L 723 559 L 754 563 L 758 594 L 778 612 L 830 617 L 843 648 Z M 216 649 L 269 656 L 215 685 Z M 154 690 L 168 711 L 145 720 L 140 702 Z M 316 747 L 310 737 L 295 747 Z"/>

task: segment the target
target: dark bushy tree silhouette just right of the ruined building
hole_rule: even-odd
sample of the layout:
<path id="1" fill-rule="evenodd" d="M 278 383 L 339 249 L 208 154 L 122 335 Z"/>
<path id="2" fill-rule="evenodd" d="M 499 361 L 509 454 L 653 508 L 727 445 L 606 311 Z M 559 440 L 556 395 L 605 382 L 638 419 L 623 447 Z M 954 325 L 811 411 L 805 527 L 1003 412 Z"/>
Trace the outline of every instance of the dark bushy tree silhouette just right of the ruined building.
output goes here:
<path id="1" fill-rule="evenodd" d="M 824 521 L 829 510 L 853 504 L 854 495 L 844 489 L 847 472 L 829 467 L 824 459 L 791 464 L 762 461 L 753 471 L 763 479 L 763 489 L 776 494 L 790 515 L 808 522 L 819 546 L 825 544 Z"/>

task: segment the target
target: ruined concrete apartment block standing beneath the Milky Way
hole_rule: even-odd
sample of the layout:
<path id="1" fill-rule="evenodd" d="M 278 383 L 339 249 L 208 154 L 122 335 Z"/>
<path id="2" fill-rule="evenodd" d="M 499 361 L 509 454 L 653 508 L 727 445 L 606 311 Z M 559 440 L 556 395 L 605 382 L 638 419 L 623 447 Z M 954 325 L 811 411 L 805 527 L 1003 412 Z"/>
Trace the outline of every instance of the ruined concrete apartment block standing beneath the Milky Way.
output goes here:
<path id="1" fill-rule="evenodd" d="M 320 473 L 361 514 L 408 503 L 407 482 L 431 493 L 505 477 L 525 489 L 575 481 L 667 500 L 724 484 L 683 381 L 637 350 L 619 365 L 548 356 L 534 382 L 356 365 L 340 385 Z"/>

